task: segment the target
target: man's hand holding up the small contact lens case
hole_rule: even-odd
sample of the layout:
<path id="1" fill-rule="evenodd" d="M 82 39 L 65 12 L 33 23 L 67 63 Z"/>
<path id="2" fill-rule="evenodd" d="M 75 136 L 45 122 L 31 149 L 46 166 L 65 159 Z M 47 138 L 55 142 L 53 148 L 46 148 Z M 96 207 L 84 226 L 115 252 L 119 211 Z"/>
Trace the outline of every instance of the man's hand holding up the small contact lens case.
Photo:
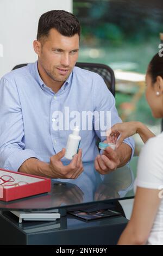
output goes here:
<path id="1" fill-rule="evenodd" d="M 103 151 L 102 155 L 97 155 L 95 159 L 95 169 L 100 174 L 107 174 L 115 170 L 120 165 L 120 157 L 116 150 L 110 147 Z"/>

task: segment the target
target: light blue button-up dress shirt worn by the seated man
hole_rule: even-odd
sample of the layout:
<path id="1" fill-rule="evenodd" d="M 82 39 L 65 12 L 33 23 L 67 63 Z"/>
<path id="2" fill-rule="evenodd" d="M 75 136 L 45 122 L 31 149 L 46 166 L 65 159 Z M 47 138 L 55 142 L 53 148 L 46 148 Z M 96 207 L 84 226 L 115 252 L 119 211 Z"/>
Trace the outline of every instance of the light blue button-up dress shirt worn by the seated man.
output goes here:
<path id="1" fill-rule="evenodd" d="M 49 162 L 49 157 L 65 148 L 72 131 L 53 129 L 53 113 L 64 113 L 65 107 L 79 113 L 111 111 L 111 125 L 121 122 L 114 96 L 94 72 L 75 67 L 57 93 L 43 83 L 37 62 L 4 75 L 0 81 L 0 167 L 17 171 L 30 157 Z M 87 129 L 80 136 L 83 161 L 95 160 L 101 131 Z M 134 153 L 133 139 L 124 142 Z"/>

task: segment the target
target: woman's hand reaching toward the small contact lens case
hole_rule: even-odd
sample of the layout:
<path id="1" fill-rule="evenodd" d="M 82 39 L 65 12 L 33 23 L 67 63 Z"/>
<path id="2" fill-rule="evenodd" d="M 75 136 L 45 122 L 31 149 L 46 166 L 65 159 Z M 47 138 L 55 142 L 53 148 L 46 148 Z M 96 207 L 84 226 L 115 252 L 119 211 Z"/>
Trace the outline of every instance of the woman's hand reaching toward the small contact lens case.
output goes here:
<path id="1" fill-rule="evenodd" d="M 137 133 L 139 126 L 140 122 L 137 121 L 117 123 L 106 132 L 106 139 L 108 142 L 116 143 L 116 148 L 118 148 L 124 139 Z"/>

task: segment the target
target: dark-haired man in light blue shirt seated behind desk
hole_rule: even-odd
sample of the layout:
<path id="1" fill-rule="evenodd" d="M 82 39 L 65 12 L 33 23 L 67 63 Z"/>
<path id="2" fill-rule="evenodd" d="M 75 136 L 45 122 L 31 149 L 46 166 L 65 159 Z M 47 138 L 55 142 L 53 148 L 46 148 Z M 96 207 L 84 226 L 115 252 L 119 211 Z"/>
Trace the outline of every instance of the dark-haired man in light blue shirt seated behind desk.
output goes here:
<path id="1" fill-rule="evenodd" d="M 95 129 L 102 121 L 99 115 L 93 117 L 92 129 L 80 126 L 81 149 L 73 160 L 68 164 L 61 161 L 64 160 L 68 135 L 72 133 L 69 124 L 74 112 L 103 112 L 106 115 L 110 111 L 110 125 L 121 122 L 115 99 L 103 79 L 93 72 L 74 67 L 78 59 L 79 36 L 76 16 L 61 10 L 48 11 L 40 17 L 37 40 L 33 42 L 37 62 L 2 77 L 1 168 L 49 178 L 76 179 L 83 172 L 82 161 L 95 160 L 97 171 L 105 174 L 130 160 L 134 152 L 131 138 L 115 151 L 107 148 L 103 155 L 98 154 L 96 136 L 102 141 L 105 139 L 101 127 Z M 64 125 L 56 113 L 62 114 Z"/>

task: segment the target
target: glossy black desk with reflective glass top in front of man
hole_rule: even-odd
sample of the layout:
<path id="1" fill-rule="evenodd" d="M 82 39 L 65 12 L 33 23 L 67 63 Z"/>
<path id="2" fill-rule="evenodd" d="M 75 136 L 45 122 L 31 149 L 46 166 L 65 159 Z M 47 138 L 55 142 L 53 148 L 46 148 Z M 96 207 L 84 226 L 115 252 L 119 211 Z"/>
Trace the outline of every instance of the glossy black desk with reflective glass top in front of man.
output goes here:
<path id="1" fill-rule="evenodd" d="M 104 176 L 96 172 L 93 162 L 87 162 L 78 179 L 53 180 L 51 193 L 0 202 L 0 245 L 114 245 L 128 222 L 123 211 L 120 216 L 90 222 L 66 212 L 104 208 L 121 212 L 117 202 L 134 197 L 133 183 L 134 174 L 128 165 Z M 18 223 L 9 211 L 50 209 L 59 209 L 60 220 Z"/>

